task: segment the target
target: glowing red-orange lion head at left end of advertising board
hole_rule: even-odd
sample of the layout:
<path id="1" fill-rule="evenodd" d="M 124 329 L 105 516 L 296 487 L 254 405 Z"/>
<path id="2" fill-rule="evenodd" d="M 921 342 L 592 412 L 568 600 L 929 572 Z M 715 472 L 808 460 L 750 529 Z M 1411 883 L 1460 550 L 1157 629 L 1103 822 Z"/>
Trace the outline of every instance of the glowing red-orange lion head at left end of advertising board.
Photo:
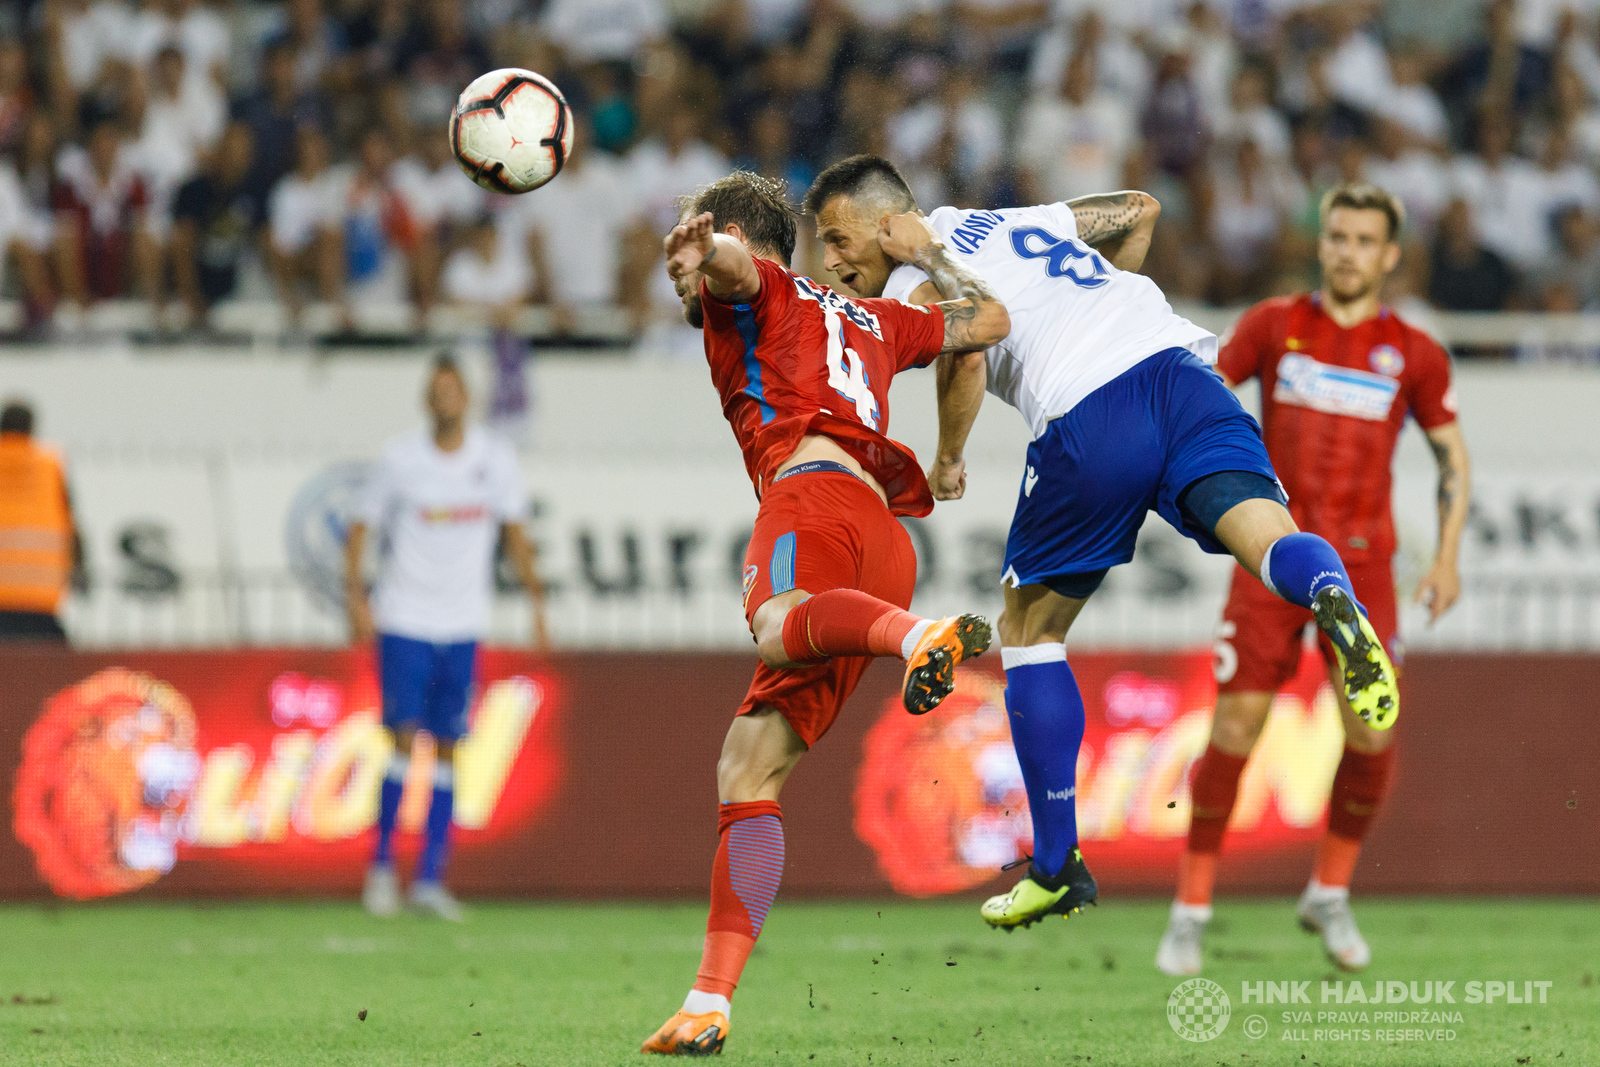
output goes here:
<path id="1" fill-rule="evenodd" d="M 50 697 L 22 737 L 19 841 L 61 896 L 128 893 L 171 870 L 200 774 L 189 701 L 114 667 Z"/>

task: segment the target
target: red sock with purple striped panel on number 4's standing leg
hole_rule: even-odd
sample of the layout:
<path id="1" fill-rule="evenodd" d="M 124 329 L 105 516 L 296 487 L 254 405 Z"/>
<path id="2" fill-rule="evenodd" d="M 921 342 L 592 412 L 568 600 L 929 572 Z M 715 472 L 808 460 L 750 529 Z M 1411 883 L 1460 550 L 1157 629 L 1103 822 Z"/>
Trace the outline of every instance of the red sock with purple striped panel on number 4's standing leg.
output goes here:
<path id="1" fill-rule="evenodd" d="M 694 989 L 733 998 L 784 873 L 782 808 L 776 800 L 722 805 L 710 869 L 710 918 Z"/>

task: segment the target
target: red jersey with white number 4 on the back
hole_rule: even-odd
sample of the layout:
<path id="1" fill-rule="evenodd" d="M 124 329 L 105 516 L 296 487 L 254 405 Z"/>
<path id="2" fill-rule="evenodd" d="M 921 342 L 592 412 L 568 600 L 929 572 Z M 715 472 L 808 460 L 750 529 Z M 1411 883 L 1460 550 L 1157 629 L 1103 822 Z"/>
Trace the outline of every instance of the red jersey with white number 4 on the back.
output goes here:
<path id="1" fill-rule="evenodd" d="M 755 258 L 762 291 L 725 304 L 701 283 L 706 362 L 760 496 L 806 434 L 830 437 L 883 486 L 896 515 L 926 515 L 917 456 L 888 438 L 890 379 L 944 347 L 944 314 L 902 301 L 846 299 Z"/>

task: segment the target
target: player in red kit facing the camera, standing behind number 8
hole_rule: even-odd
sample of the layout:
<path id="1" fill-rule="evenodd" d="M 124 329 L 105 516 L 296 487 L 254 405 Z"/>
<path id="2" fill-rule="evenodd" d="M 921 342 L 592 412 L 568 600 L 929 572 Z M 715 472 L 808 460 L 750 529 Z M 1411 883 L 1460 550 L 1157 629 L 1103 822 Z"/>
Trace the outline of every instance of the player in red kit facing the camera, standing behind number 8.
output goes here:
<path id="1" fill-rule="evenodd" d="M 1376 186 L 1331 189 L 1322 202 L 1322 291 L 1251 307 L 1224 338 L 1218 371 L 1238 384 L 1261 379 L 1267 454 L 1301 530 L 1339 552 L 1368 621 L 1400 664 L 1398 611 L 1390 573 L 1395 552 L 1390 462 L 1406 416 L 1427 434 L 1438 461 L 1438 552 L 1416 600 L 1432 617 L 1461 592 L 1456 550 L 1467 522 L 1469 459 L 1456 422 L 1450 357 L 1378 301 L 1400 262 L 1400 203 Z M 1200 937 L 1211 918 L 1218 853 L 1238 795 L 1245 760 L 1267 721 L 1272 697 L 1294 677 L 1310 613 L 1274 597 L 1243 569 L 1222 609 L 1218 701 L 1211 744 L 1190 777 L 1194 811 L 1178 899 L 1155 955 L 1166 974 L 1200 973 Z M 1326 637 L 1323 659 L 1333 662 Z M 1334 693 L 1342 693 L 1338 678 Z M 1328 829 L 1298 913 L 1322 934 L 1338 966 L 1371 960 L 1350 913 L 1349 886 L 1362 838 L 1394 771 L 1394 733 L 1352 713 L 1341 696 L 1344 755 L 1333 777 Z"/>

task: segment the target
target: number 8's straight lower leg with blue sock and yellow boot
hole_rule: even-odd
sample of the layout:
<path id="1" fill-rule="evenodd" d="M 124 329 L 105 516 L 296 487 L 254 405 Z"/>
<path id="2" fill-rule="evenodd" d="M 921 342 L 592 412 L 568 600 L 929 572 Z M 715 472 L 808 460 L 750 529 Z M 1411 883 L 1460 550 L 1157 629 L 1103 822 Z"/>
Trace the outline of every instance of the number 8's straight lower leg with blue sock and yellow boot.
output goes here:
<path id="1" fill-rule="evenodd" d="M 1077 776 L 1085 715 L 1062 641 L 1101 576 L 1077 589 L 1083 597 L 1037 584 L 1005 587 L 1005 704 L 1034 819 L 1034 856 L 1027 875 L 981 909 L 984 921 L 1000 929 L 1072 915 L 1099 896 L 1078 849 Z"/>

